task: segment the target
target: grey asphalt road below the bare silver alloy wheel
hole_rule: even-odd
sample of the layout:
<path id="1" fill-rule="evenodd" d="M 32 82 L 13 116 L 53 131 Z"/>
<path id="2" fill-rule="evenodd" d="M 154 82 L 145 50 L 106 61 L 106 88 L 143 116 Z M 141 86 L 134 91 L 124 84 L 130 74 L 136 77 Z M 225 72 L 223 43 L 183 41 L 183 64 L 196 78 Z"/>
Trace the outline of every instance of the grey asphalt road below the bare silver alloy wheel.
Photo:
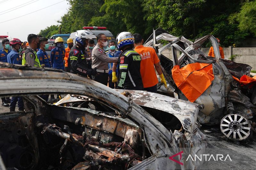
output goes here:
<path id="1" fill-rule="evenodd" d="M 206 133 L 204 130 L 212 131 Z M 212 154 L 229 154 L 232 161 L 206 162 L 200 169 L 256 169 L 256 134 L 247 141 L 232 141 L 220 131 L 220 126 L 202 126 Z M 208 157 L 209 158 L 209 157 Z"/>

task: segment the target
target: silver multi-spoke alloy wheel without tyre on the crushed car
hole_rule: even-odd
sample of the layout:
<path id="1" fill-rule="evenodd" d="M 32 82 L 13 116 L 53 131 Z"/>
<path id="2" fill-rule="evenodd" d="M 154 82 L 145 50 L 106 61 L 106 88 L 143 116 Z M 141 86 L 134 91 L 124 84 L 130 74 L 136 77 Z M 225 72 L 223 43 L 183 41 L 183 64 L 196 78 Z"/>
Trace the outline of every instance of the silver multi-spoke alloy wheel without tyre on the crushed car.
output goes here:
<path id="1" fill-rule="evenodd" d="M 229 139 L 239 141 L 250 136 L 251 125 L 243 116 L 230 114 L 221 120 L 220 130 Z"/>

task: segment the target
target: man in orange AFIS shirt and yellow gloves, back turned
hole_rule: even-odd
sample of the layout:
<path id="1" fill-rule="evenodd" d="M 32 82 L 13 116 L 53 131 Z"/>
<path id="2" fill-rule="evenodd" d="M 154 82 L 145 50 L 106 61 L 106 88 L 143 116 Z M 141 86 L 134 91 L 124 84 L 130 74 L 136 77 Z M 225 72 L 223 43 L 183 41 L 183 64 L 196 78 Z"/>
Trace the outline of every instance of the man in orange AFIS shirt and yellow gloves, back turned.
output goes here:
<path id="1" fill-rule="evenodd" d="M 133 34 L 134 36 L 134 50 L 140 54 L 140 74 L 143 82 L 144 90 L 148 92 L 156 93 L 156 85 L 158 79 L 156 77 L 156 71 L 161 78 L 161 83 L 167 87 L 164 74 L 159 64 L 160 60 L 156 54 L 156 51 L 152 47 L 144 47 L 142 36 L 138 33 Z M 156 71 L 155 71 L 156 68 Z"/>

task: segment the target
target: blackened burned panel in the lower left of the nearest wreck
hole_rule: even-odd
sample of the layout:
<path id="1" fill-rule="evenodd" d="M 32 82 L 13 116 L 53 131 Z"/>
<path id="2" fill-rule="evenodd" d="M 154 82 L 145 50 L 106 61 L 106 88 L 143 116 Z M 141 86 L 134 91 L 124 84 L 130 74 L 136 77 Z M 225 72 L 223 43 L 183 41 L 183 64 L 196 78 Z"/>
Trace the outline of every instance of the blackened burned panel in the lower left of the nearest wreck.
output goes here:
<path id="1" fill-rule="evenodd" d="M 0 151 L 7 167 L 34 169 L 39 161 L 33 113 L 0 115 Z"/>

